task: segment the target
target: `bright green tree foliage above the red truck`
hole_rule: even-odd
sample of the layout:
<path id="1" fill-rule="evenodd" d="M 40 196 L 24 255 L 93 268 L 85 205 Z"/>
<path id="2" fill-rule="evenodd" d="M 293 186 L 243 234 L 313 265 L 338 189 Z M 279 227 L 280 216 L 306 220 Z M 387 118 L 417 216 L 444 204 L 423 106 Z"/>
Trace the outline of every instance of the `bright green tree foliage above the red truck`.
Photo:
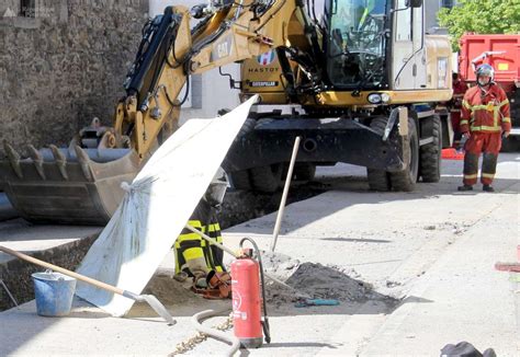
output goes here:
<path id="1" fill-rule="evenodd" d="M 479 34 L 520 33 L 520 0 L 459 0 L 439 11 L 439 24 L 452 36 L 453 50 L 465 32 Z"/>

